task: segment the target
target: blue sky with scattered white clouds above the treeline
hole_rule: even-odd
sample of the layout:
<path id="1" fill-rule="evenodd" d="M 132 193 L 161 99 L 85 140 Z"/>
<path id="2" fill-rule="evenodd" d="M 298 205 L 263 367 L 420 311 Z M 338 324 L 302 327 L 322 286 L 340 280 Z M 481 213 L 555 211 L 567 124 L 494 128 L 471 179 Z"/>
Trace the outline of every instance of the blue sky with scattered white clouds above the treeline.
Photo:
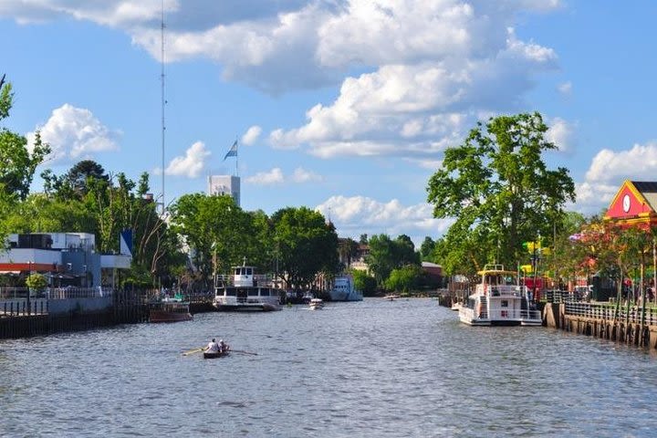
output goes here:
<path id="1" fill-rule="evenodd" d="M 648 0 L 2 0 L 0 127 L 41 132 L 37 175 L 94 160 L 149 172 L 171 204 L 238 174 L 247 211 L 307 206 L 342 237 L 419 245 L 452 224 L 426 186 L 477 120 L 540 112 L 568 210 L 657 181 L 654 16 Z"/>

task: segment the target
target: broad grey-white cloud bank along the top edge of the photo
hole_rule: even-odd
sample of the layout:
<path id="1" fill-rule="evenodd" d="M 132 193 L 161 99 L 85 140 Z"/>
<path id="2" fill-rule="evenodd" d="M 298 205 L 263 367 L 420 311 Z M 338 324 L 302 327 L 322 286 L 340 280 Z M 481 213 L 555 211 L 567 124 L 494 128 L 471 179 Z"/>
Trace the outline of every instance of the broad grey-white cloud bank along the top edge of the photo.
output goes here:
<path id="1" fill-rule="evenodd" d="M 518 13 L 559 6 L 556 0 L 167 0 L 166 61 L 211 59 L 224 78 L 272 93 L 337 85 L 351 68 L 479 63 L 506 49 L 545 62 L 551 49 L 509 44 L 507 29 Z M 162 53 L 160 0 L 5 0 L 0 16 L 88 20 L 122 29 L 154 58 Z"/>

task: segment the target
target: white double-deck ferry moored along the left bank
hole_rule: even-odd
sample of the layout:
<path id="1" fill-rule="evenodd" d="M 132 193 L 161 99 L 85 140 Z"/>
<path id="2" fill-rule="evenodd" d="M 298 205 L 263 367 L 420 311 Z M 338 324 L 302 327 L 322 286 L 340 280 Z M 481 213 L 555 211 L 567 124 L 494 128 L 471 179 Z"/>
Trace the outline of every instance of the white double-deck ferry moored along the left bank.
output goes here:
<path id="1" fill-rule="evenodd" d="M 254 266 L 233 267 L 232 276 L 217 276 L 213 306 L 220 311 L 280 310 L 278 289 L 269 276 L 255 275 Z"/>

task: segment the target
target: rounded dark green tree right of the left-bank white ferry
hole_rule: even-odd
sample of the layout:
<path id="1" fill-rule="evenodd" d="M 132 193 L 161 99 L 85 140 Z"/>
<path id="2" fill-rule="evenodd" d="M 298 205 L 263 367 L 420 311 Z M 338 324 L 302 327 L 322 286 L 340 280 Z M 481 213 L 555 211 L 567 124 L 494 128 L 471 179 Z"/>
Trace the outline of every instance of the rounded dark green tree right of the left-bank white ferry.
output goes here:
<path id="1" fill-rule="evenodd" d="M 272 215 L 279 275 L 287 287 L 309 287 L 320 272 L 338 269 L 338 235 L 333 224 L 308 207 L 287 207 Z"/>

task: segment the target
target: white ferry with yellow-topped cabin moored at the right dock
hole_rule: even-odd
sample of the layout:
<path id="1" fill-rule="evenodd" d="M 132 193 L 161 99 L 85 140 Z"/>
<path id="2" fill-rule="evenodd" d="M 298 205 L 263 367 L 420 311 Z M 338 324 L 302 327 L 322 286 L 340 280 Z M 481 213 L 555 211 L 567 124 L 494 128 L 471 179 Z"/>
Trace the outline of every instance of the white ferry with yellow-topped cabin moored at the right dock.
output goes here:
<path id="1" fill-rule="evenodd" d="M 517 273 L 502 265 L 486 265 L 481 283 L 459 308 L 459 319 L 471 326 L 540 326 L 541 313 Z"/>

